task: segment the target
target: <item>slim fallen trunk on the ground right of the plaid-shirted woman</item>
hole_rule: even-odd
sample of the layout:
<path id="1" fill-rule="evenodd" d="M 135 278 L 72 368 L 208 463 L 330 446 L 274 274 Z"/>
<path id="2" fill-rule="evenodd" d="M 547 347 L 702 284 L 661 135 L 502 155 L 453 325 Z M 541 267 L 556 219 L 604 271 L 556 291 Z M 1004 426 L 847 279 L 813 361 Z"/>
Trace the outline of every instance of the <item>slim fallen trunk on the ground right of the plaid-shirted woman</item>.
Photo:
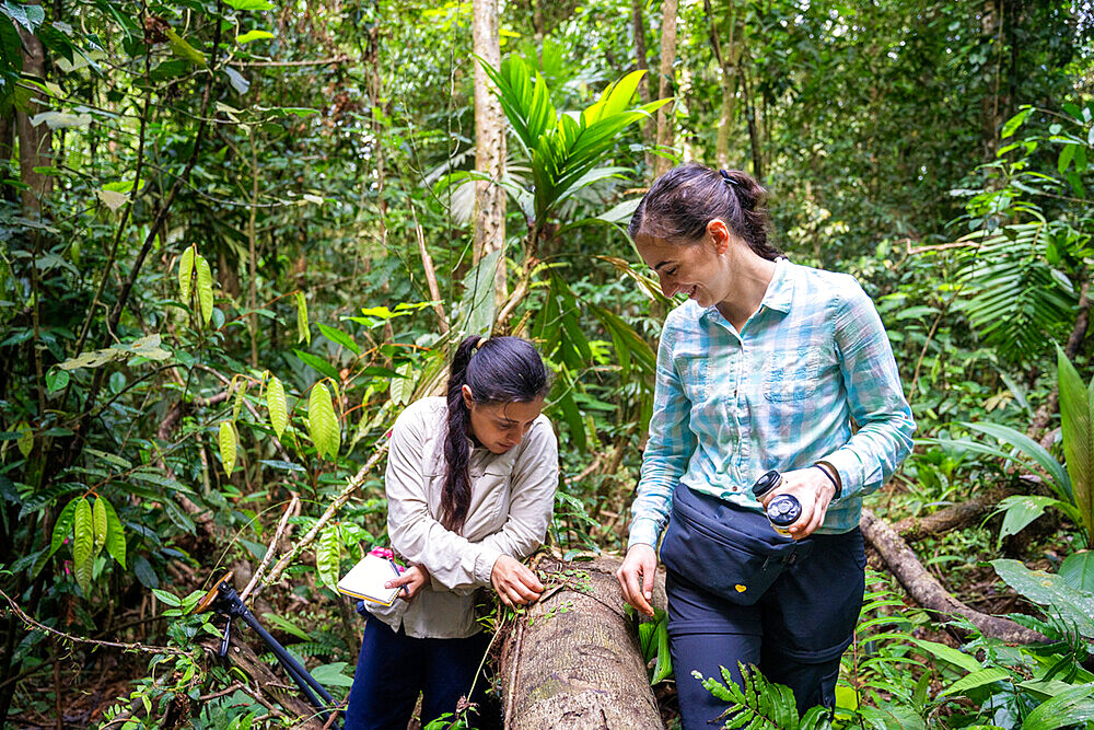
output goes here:
<path id="1" fill-rule="evenodd" d="M 959 615 L 971 622 L 985 636 L 1008 644 L 1036 644 L 1048 639 L 1009 618 L 981 613 L 958 601 L 932 576 L 891 524 L 869 509 L 859 522 L 862 535 L 877 551 L 889 572 L 896 576 L 908 594 L 941 621 Z"/>

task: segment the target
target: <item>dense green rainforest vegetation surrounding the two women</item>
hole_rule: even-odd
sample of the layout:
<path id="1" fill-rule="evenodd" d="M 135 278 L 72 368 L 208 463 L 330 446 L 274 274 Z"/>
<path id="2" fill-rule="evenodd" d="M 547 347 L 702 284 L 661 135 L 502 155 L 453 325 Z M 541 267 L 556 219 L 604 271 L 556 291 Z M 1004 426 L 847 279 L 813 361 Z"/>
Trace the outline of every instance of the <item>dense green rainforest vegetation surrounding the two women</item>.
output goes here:
<path id="1" fill-rule="evenodd" d="M 500 63 L 478 0 L 0 4 L 0 725 L 293 725 L 201 649 L 229 570 L 344 697 L 334 584 L 386 545 L 385 434 L 465 334 L 550 363 L 550 548 L 619 551 L 673 305 L 624 229 L 698 160 L 759 177 L 788 255 L 881 312 L 919 440 L 866 506 L 993 497 L 916 551 L 1046 639 L 928 614 L 878 563 L 836 727 L 1091 727 L 1091 3 L 482 4 Z M 734 727 L 829 722 L 719 680 Z"/>

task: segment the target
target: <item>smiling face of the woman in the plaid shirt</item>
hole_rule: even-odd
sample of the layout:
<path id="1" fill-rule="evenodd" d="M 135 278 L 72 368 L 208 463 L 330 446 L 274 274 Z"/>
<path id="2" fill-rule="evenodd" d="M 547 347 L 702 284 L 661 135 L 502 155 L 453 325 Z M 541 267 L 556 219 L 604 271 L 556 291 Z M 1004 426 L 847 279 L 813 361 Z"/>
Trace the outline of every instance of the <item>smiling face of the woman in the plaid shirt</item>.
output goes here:
<path id="1" fill-rule="evenodd" d="M 715 223 L 715 221 L 711 221 Z M 729 296 L 725 225 L 717 221 L 718 232 L 708 229 L 707 235 L 695 243 L 675 243 L 651 235 L 638 235 L 635 247 L 638 254 L 657 275 L 665 297 L 684 292 L 699 306 L 713 306 Z"/>

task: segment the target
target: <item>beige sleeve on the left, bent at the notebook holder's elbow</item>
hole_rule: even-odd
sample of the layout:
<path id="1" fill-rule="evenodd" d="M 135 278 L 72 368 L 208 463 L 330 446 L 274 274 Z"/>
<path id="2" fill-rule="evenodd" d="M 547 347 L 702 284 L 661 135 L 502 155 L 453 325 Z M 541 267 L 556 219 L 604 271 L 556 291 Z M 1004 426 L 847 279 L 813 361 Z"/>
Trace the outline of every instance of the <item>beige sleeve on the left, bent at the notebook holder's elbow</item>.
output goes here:
<path id="1" fill-rule="evenodd" d="M 392 429 L 385 474 L 392 547 L 450 590 L 489 586 L 490 571 L 485 566 L 489 561 L 492 569 L 497 551 L 452 532 L 429 513 L 426 428 L 422 410 L 411 406 Z"/>

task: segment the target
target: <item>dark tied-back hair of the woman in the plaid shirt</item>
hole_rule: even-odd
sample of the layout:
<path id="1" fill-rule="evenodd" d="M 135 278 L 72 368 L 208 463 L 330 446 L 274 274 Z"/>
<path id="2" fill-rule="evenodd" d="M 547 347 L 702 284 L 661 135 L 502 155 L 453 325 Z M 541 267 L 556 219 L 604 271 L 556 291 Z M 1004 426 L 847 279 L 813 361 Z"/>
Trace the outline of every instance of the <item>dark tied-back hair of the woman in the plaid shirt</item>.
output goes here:
<path id="1" fill-rule="evenodd" d="M 653 182 L 627 227 L 631 239 L 653 235 L 670 242 L 699 241 L 718 218 L 753 252 L 775 260 L 782 252 L 767 240 L 767 192 L 748 173 L 711 170 L 696 162 L 673 167 Z"/>

